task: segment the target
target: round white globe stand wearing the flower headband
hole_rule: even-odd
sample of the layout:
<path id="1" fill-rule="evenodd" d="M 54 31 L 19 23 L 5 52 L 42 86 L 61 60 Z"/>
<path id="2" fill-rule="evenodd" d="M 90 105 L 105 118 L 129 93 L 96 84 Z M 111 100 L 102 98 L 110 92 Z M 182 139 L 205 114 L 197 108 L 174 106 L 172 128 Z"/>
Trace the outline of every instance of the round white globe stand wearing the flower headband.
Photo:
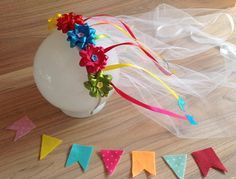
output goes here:
<path id="1" fill-rule="evenodd" d="M 35 83 L 43 97 L 65 114 L 77 118 L 89 117 L 104 108 L 112 91 L 100 100 L 89 95 L 84 87 L 84 82 L 88 81 L 86 68 L 79 66 L 79 50 L 70 48 L 66 39 L 66 34 L 54 31 L 42 42 L 34 59 Z M 108 38 L 96 42 L 97 46 L 104 48 L 112 45 Z M 109 51 L 107 56 L 108 65 L 119 63 L 115 50 Z M 112 82 L 117 82 L 119 70 L 107 74 L 112 75 Z"/>

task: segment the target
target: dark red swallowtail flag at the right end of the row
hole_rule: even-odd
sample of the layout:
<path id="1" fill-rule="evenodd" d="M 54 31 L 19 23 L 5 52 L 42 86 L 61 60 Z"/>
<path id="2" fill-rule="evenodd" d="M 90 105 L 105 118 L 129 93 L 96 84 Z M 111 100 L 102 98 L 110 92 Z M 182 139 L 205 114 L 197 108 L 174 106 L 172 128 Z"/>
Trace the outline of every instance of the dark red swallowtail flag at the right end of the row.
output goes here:
<path id="1" fill-rule="evenodd" d="M 210 168 L 214 168 L 223 173 L 227 172 L 227 169 L 211 147 L 204 150 L 195 151 L 192 153 L 192 156 L 197 163 L 202 176 L 204 177 L 207 176 Z"/>

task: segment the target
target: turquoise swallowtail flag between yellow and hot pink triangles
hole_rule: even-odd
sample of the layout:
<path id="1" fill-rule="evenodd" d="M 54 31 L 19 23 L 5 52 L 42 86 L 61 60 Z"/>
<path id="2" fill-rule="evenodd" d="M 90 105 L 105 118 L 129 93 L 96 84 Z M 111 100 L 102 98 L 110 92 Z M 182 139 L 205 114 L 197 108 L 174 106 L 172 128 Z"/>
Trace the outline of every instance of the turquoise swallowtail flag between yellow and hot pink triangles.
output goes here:
<path id="1" fill-rule="evenodd" d="M 93 146 L 72 144 L 66 167 L 78 162 L 84 171 L 87 171 L 93 153 Z"/>

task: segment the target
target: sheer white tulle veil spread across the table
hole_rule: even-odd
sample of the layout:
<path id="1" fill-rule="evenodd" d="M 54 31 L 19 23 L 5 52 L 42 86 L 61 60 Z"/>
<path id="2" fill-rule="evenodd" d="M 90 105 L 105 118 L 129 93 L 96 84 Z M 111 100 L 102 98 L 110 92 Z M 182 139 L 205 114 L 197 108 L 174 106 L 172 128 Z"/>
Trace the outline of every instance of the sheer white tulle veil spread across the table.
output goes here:
<path id="1" fill-rule="evenodd" d="M 165 61 L 159 62 L 175 74 L 164 75 L 146 55 L 132 46 L 114 49 L 120 63 L 135 64 L 159 76 L 184 98 L 186 112 L 195 117 L 198 125 L 192 126 L 135 105 L 140 112 L 178 137 L 236 136 L 235 7 L 177 9 L 162 4 L 144 14 L 117 18 L 131 27 L 138 40 L 161 54 Z M 119 23 L 112 17 L 96 17 L 88 23 L 104 19 Z M 134 42 L 111 25 L 94 28 L 110 36 L 114 44 Z M 124 92 L 149 105 L 184 115 L 176 99 L 153 77 L 134 68 L 121 69 L 120 74 L 116 85 Z"/>

